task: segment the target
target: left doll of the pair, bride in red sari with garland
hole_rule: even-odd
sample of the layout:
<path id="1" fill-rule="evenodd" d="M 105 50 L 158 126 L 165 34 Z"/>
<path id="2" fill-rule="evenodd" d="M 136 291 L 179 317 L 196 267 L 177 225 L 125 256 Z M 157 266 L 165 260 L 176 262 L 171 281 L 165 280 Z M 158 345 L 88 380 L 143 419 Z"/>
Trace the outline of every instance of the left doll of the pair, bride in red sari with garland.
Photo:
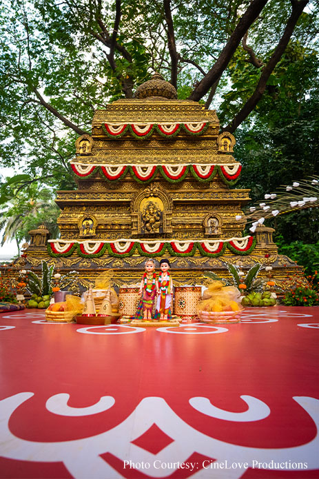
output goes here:
<path id="1" fill-rule="evenodd" d="M 158 294 L 158 282 L 156 280 L 155 261 L 152 258 L 145 261 L 145 273 L 141 280 L 139 294 L 142 295 L 138 303 L 136 318 L 152 320 L 152 310 L 156 294 Z"/>

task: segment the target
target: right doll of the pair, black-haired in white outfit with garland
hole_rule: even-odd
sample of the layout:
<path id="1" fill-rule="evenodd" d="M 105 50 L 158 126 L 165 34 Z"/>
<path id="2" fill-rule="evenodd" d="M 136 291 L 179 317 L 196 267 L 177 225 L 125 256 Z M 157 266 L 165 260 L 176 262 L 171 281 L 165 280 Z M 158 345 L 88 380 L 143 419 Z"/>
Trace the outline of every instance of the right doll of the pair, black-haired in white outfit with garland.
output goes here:
<path id="1" fill-rule="evenodd" d="M 159 295 L 156 303 L 155 318 L 159 320 L 167 320 L 172 318 L 172 294 L 173 294 L 173 280 L 169 274 L 171 267 L 168 259 L 161 259 L 160 261 L 161 273 L 158 276 Z"/>

